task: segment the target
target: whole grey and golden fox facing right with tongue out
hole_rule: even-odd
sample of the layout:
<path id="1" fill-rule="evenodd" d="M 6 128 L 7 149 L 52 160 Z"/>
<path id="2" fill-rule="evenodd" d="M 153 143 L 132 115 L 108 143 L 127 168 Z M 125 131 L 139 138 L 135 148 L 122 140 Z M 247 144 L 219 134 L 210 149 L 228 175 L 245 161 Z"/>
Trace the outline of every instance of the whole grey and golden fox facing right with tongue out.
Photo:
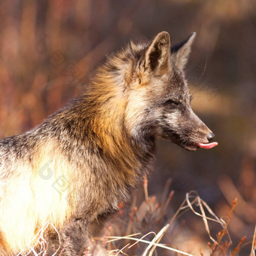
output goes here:
<path id="1" fill-rule="evenodd" d="M 131 41 L 65 107 L 0 140 L 1 255 L 26 254 L 49 221 L 62 255 L 83 253 L 153 171 L 157 138 L 187 151 L 218 145 L 190 106 L 195 35 L 173 46 L 168 32 Z"/>

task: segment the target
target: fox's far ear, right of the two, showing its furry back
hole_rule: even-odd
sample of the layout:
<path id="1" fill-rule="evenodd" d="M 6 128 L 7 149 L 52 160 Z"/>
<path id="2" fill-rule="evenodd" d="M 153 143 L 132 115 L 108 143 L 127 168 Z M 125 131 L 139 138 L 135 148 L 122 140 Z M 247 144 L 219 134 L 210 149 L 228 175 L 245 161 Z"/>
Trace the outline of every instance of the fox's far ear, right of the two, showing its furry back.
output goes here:
<path id="1" fill-rule="evenodd" d="M 175 44 L 171 48 L 171 58 L 178 69 L 183 70 L 187 64 L 187 58 L 191 50 L 191 44 L 194 41 L 196 32 L 193 32 L 187 39 L 181 41 L 179 44 Z"/>

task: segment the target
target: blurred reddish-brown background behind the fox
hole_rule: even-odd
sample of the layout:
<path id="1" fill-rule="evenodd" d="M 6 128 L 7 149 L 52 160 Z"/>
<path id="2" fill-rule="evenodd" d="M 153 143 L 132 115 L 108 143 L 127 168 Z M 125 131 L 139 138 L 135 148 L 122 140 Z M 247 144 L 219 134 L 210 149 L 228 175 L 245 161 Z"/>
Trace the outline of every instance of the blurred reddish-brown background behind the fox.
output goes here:
<path id="1" fill-rule="evenodd" d="M 175 194 L 166 221 L 190 190 L 197 190 L 219 217 L 229 214 L 237 197 L 228 227 L 234 245 L 247 236 L 243 250 L 248 252 L 256 222 L 253 0 L 1 1 L 0 136 L 41 123 L 78 95 L 105 55 L 163 30 L 172 44 L 197 32 L 186 69 L 192 106 L 219 145 L 188 152 L 159 140 L 149 194 L 160 197 L 172 178 L 169 190 Z M 178 221 L 180 231 L 169 244 L 195 255 L 202 248 L 207 255 L 202 219 L 187 212 Z M 213 234 L 221 230 L 215 224 L 211 229 Z"/>

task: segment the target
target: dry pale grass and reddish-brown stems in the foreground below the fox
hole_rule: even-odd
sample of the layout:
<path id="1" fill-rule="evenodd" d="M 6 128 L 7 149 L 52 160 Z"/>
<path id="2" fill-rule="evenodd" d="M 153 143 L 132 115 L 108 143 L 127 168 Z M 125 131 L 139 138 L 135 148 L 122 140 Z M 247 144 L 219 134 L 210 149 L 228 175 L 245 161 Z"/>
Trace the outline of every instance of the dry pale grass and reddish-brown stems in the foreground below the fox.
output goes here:
<path id="1" fill-rule="evenodd" d="M 246 246 L 248 248 L 248 246 L 251 245 L 250 256 L 255 256 L 256 226 L 252 240 L 245 242 L 246 237 L 244 236 L 236 246 L 233 245 L 227 229 L 236 207 L 237 199 L 233 200 L 230 212 L 227 215 L 227 219 L 224 221 L 224 218 L 219 218 L 215 215 L 209 205 L 199 197 L 197 192 L 190 191 L 186 194 L 186 197 L 178 210 L 173 213 L 172 218 L 170 218 L 169 221 L 166 221 L 166 215 L 169 215 L 169 203 L 174 194 L 173 190 L 171 190 L 169 194 L 167 193 L 170 184 L 170 181 L 166 182 L 162 199 L 158 202 L 157 197 L 148 196 L 148 181 L 145 179 L 145 199 L 142 200 L 142 203 L 136 203 L 135 205 L 134 203 L 138 200 L 135 197 L 133 206 L 130 208 L 129 218 L 126 218 L 125 212 L 123 212 L 123 209 L 120 209 L 120 212 L 118 212 L 105 227 L 103 235 L 91 240 L 90 248 L 87 248 L 87 251 L 84 251 L 83 255 L 101 255 L 99 251 L 103 250 L 104 254 L 107 254 L 108 256 L 238 256 L 242 248 L 245 248 Z M 178 248 L 175 242 L 177 239 L 173 239 L 173 236 L 170 236 L 170 233 L 174 233 L 175 236 L 180 236 L 180 238 L 183 239 L 183 242 L 186 243 L 184 233 L 181 232 L 184 227 L 182 227 L 181 221 L 179 221 L 179 218 L 181 218 L 181 215 L 183 215 L 184 212 L 188 212 L 190 215 L 195 215 L 194 218 L 197 218 L 197 216 L 201 218 L 201 225 L 205 227 L 205 233 L 209 237 L 208 242 L 206 239 L 201 240 L 200 243 L 196 243 L 194 247 L 187 246 L 187 250 Z M 166 223 L 163 224 L 164 222 Z M 210 228 L 212 223 L 218 224 L 220 227 L 220 231 L 215 236 L 212 234 Z M 20 254 L 18 255 L 49 255 L 47 254 L 48 245 L 44 236 L 45 231 L 50 226 L 53 227 L 50 222 L 47 222 L 47 224 L 38 231 L 35 239 L 32 241 L 32 247 L 27 254 L 23 254 L 23 252 L 20 251 Z M 56 228 L 53 227 L 53 229 L 57 236 L 59 236 Z M 178 229 L 180 229 L 179 232 L 177 232 Z M 133 231 L 138 232 L 133 233 Z M 203 244 L 204 242 L 205 245 Z M 204 252 L 202 247 L 204 247 Z M 35 248 L 40 249 L 38 251 L 35 250 Z M 99 250 L 99 248 L 101 248 L 101 250 Z M 208 248 L 207 251 L 206 248 Z M 61 255 L 62 250 L 57 248 L 51 255 L 54 256 L 58 253 Z"/>

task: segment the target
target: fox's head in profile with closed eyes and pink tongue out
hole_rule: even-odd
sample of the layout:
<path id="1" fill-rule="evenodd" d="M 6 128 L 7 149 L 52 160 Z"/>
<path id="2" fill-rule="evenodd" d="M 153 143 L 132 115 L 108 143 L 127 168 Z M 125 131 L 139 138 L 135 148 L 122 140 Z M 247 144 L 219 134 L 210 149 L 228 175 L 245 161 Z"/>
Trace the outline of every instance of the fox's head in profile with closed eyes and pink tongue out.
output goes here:
<path id="1" fill-rule="evenodd" d="M 133 137 L 160 136 L 189 151 L 217 145 L 209 143 L 214 133 L 190 106 L 184 67 L 195 35 L 171 47 L 169 33 L 160 32 L 148 44 L 131 42 L 108 59 L 108 87 L 118 84 L 115 102 L 126 99 L 123 120 Z"/>

